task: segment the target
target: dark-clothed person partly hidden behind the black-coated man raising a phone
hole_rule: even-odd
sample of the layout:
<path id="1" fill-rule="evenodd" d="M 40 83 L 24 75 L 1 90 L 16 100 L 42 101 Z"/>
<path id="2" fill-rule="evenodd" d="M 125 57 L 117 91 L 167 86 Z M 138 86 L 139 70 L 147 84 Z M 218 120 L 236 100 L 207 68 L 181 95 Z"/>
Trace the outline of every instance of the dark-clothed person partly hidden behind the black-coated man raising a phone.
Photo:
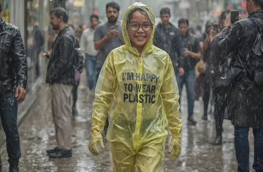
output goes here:
<path id="1" fill-rule="evenodd" d="M 229 58 L 229 56 L 222 56 L 219 49 L 217 48 L 217 42 L 219 39 L 219 32 L 223 29 L 223 23 L 227 15 L 230 13 L 230 10 L 223 11 L 219 16 L 219 24 L 214 23 L 213 29 L 210 31 L 208 39 L 205 40 L 204 44 L 209 44 L 209 57 L 206 59 L 206 78 L 208 83 L 212 86 L 213 97 L 215 103 L 215 127 L 216 127 L 216 137 L 212 142 L 213 145 L 222 144 L 222 132 L 223 132 L 223 119 L 226 110 L 226 97 L 228 92 L 226 87 L 220 85 L 218 87 L 218 78 L 224 77 L 220 71 L 222 71 L 221 64 Z M 206 43 L 207 42 L 207 43 Z M 210 86 L 209 86 L 210 87 Z"/>

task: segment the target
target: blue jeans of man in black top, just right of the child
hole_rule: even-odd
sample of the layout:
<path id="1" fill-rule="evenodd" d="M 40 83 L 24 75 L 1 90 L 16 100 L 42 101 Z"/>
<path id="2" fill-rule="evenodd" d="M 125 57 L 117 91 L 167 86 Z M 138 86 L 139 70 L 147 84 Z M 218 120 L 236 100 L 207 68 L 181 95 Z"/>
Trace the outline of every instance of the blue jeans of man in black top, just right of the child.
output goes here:
<path id="1" fill-rule="evenodd" d="M 180 97 L 182 95 L 183 84 L 186 86 L 188 119 L 193 119 L 195 104 L 195 70 L 185 71 L 183 76 L 176 75 Z M 181 103 L 181 98 L 179 99 L 179 103 Z"/>

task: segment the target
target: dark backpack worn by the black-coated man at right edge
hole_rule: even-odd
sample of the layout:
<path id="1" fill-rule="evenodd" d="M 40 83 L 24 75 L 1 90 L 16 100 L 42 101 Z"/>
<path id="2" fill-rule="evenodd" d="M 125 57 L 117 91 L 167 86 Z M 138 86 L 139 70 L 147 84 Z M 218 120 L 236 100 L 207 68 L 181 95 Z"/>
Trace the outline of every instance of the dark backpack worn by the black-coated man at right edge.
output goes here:
<path id="1" fill-rule="evenodd" d="M 245 68 L 250 79 L 260 88 L 263 88 L 263 34 L 255 22 L 256 19 L 250 18 L 250 20 L 258 29 L 258 33 L 247 56 L 247 65 Z"/>

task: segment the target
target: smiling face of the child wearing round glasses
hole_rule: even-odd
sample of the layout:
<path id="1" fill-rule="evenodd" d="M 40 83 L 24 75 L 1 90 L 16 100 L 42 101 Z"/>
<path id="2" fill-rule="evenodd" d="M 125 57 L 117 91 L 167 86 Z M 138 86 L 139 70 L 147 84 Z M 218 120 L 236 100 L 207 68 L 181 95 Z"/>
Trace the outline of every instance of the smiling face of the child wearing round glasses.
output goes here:
<path id="1" fill-rule="evenodd" d="M 144 48 L 153 32 L 152 23 L 149 17 L 141 11 L 135 11 L 133 13 L 127 29 L 132 46 L 138 50 Z"/>

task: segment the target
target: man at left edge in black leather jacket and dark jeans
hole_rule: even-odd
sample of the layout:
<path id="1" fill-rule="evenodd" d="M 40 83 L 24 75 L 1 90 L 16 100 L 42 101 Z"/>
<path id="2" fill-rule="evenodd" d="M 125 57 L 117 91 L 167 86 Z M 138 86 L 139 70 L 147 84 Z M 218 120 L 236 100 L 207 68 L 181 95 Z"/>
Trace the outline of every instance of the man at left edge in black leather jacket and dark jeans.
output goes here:
<path id="1" fill-rule="evenodd" d="M 0 4 L 0 116 L 6 134 L 9 171 L 18 171 L 21 157 L 17 107 L 26 96 L 27 63 L 19 29 L 2 19 Z M 1 171 L 2 163 L 0 165 Z"/>

